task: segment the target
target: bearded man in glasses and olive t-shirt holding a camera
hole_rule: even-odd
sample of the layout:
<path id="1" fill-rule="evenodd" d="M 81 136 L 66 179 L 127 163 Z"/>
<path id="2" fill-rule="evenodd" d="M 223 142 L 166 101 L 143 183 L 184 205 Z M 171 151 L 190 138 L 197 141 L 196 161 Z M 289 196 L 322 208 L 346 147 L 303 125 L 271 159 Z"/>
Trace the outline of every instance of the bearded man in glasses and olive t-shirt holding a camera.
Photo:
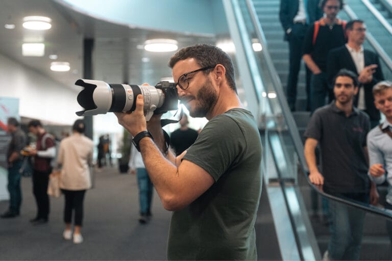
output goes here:
<path id="1" fill-rule="evenodd" d="M 179 99 L 192 117 L 209 122 L 175 158 L 160 115 L 147 123 L 143 96 L 133 113 L 116 113 L 132 136 L 166 210 L 174 211 L 168 259 L 257 259 L 254 224 L 261 193 L 261 141 L 242 108 L 234 68 L 221 49 L 182 48 L 169 66 Z"/>

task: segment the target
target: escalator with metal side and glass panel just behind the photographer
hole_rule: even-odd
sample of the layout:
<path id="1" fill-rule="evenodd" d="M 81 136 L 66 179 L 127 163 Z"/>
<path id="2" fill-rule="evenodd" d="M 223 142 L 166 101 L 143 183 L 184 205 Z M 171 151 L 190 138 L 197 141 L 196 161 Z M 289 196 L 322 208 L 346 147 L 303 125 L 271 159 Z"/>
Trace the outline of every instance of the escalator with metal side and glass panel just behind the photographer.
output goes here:
<path id="1" fill-rule="evenodd" d="M 253 5 L 250 0 L 230 0 L 224 1 L 224 7 L 237 64 L 241 64 L 239 80 L 258 102 L 255 115 L 263 142 L 264 180 L 256 223 L 258 259 L 321 260 L 329 240 L 322 205 L 333 201 L 365 212 L 360 259 L 391 260 L 392 247 L 385 228 L 386 221 L 392 219 L 391 212 L 325 194 L 307 178 L 301 129 L 283 91 L 282 67 L 288 70 L 288 54 L 284 55 L 287 44 L 278 20 L 279 1 L 258 1 Z M 261 43 L 262 51 L 253 51 L 255 41 Z M 387 63 L 384 66 L 388 68 Z M 304 72 L 301 78 L 305 78 Z"/>

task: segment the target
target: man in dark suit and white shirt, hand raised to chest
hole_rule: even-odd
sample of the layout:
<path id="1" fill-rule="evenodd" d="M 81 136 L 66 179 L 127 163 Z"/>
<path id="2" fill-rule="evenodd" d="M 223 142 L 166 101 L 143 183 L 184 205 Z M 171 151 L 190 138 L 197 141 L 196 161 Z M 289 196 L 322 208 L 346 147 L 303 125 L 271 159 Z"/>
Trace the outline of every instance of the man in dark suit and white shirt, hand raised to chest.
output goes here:
<path id="1" fill-rule="evenodd" d="M 366 25 L 362 20 L 352 20 L 346 25 L 347 44 L 332 49 L 328 55 L 327 71 L 331 83 L 340 69 L 348 69 L 358 74 L 359 92 L 355 97 L 354 106 L 369 115 L 371 127 L 380 121 L 380 112 L 374 105 L 373 86 L 384 80 L 378 55 L 363 49 Z"/>

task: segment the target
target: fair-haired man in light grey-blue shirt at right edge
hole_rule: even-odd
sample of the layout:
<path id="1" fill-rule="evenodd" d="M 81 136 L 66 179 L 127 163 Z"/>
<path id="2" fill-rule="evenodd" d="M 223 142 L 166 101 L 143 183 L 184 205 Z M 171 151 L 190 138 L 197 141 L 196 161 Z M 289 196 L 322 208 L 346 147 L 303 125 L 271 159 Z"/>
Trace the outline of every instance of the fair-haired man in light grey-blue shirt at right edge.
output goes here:
<path id="1" fill-rule="evenodd" d="M 373 87 L 374 104 L 385 115 L 385 121 L 367 135 L 370 178 L 377 184 L 387 180 L 385 208 L 392 210 L 392 82 L 380 82 Z M 386 227 L 392 242 L 392 222 Z"/>

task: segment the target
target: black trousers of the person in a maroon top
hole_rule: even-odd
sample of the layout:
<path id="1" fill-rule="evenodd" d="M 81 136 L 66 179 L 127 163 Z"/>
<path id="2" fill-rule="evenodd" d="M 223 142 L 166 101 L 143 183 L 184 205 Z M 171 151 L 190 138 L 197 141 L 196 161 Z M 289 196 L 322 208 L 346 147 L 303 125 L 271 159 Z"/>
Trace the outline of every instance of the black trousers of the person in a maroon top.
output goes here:
<path id="1" fill-rule="evenodd" d="M 47 184 L 49 182 L 48 172 L 33 171 L 33 194 L 37 203 L 37 218 L 47 219 L 49 215 L 49 196 L 47 195 Z"/>

